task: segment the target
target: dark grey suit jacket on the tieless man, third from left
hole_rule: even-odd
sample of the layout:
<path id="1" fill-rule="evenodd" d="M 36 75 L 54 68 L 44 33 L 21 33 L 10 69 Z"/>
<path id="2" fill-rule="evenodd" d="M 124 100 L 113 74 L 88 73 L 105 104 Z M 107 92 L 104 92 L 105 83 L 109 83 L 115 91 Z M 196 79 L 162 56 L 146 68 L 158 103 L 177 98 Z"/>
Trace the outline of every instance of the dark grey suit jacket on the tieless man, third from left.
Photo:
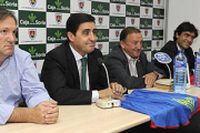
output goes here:
<path id="1" fill-rule="evenodd" d="M 147 61 L 146 54 L 141 51 L 139 61 L 137 62 L 138 78 L 130 75 L 128 59 L 120 45 L 112 49 L 112 52 L 106 58 L 104 63 L 109 71 L 109 76 L 112 82 L 118 82 L 128 89 L 144 88 L 144 74 L 158 71 L 164 74 L 162 70 Z"/>

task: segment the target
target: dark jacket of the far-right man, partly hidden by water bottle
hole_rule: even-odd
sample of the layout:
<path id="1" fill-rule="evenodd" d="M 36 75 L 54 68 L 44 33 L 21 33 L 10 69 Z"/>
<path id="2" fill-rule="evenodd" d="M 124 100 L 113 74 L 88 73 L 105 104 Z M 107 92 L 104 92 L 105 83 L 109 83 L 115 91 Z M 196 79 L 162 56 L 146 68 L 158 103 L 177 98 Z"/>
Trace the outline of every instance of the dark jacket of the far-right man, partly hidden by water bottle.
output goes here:
<path id="1" fill-rule="evenodd" d="M 174 41 L 169 41 L 168 43 L 166 43 L 163 45 L 163 48 L 159 51 L 159 52 L 164 52 L 167 53 L 170 58 L 171 58 L 171 62 L 169 63 L 170 70 L 171 70 L 171 76 L 173 78 L 173 59 L 174 57 L 179 53 L 178 48 L 177 48 L 177 43 Z M 188 59 L 188 63 L 189 63 L 189 69 L 193 69 L 194 68 L 194 55 L 193 55 L 193 51 L 192 49 L 189 47 L 188 49 L 184 50 L 184 55 Z M 164 70 L 167 78 L 169 78 L 169 70 L 167 68 L 166 64 L 159 63 L 157 60 L 154 61 L 154 64 Z"/>

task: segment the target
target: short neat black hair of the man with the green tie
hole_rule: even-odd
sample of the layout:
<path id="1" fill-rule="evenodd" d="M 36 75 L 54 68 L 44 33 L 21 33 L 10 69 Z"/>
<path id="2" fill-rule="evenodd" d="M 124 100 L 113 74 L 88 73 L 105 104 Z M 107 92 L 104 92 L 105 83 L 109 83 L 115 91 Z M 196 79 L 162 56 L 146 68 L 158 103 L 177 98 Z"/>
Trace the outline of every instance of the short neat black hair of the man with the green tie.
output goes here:
<path id="1" fill-rule="evenodd" d="M 76 35 L 79 25 L 83 22 L 94 22 L 94 18 L 91 14 L 87 13 L 73 13 L 69 17 L 66 22 L 67 33 L 71 32 Z"/>

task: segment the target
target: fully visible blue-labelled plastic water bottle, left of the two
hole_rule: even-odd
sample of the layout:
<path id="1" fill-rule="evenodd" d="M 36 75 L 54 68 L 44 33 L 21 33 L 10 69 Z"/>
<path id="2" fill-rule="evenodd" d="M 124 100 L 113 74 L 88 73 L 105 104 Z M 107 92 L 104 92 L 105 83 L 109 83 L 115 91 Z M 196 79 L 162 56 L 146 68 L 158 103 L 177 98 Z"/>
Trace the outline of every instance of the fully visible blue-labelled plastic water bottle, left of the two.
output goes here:
<path id="1" fill-rule="evenodd" d="M 174 58 L 173 63 L 173 91 L 176 93 L 186 93 L 187 89 L 187 58 L 182 51 Z"/>

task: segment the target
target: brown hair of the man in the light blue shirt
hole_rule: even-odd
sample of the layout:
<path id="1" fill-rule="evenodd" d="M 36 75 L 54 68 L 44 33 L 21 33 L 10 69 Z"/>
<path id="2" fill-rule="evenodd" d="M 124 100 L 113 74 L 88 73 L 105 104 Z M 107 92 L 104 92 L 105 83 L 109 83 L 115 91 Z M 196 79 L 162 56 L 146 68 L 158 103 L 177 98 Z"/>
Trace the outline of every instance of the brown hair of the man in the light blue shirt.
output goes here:
<path id="1" fill-rule="evenodd" d="M 13 20 L 16 21 L 16 24 L 17 24 L 17 19 L 14 17 L 14 12 L 13 11 L 9 11 L 7 9 L 3 9 L 3 8 L 0 8 L 0 21 L 4 20 L 8 17 L 13 18 Z"/>

